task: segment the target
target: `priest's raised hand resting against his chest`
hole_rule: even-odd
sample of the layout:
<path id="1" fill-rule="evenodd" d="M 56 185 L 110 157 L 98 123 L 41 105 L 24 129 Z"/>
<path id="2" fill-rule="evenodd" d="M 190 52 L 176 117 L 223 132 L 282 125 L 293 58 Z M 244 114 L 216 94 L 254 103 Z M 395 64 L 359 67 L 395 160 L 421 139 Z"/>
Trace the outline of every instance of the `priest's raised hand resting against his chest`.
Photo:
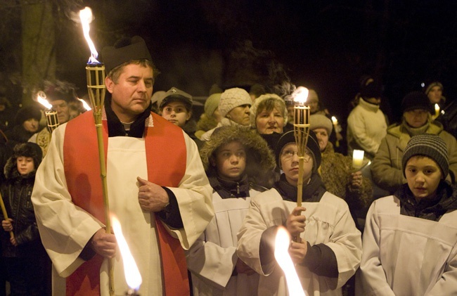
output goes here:
<path id="1" fill-rule="evenodd" d="M 141 210 L 146 212 L 160 212 L 169 203 L 167 191 L 162 186 L 148 180 L 136 178 L 139 183 L 138 202 Z"/>

